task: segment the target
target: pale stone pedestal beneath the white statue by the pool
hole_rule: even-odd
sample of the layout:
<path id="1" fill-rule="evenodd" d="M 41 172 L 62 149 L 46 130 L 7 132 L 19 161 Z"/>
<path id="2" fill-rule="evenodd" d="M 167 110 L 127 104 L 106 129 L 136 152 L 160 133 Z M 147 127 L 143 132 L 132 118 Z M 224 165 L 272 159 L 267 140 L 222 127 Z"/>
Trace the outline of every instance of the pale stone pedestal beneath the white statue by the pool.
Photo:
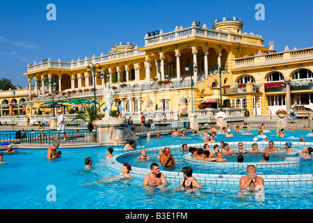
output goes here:
<path id="1" fill-rule="evenodd" d="M 125 145 L 125 120 L 114 117 L 103 118 L 95 121 L 97 126 L 97 141 L 112 146 Z"/>

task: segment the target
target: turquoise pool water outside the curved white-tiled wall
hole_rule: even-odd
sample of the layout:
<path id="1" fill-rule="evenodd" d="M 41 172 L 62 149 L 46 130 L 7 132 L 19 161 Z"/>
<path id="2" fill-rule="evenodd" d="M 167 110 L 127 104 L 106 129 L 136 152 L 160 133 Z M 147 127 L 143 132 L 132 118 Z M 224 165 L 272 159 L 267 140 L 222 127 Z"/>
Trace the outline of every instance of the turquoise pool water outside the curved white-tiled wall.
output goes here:
<path id="1" fill-rule="evenodd" d="M 298 141 L 297 138 L 300 135 L 307 133 L 293 130 L 289 137 L 292 136 L 294 141 Z M 218 136 L 220 135 L 218 134 Z M 241 140 L 232 139 L 232 141 L 245 141 L 244 136 L 240 137 L 242 137 Z M 223 139 L 223 137 L 220 136 L 219 139 Z M 305 139 L 312 141 L 313 137 L 305 137 Z M 183 142 L 186 144 L 202 142 L 198 140 L 197 137 L 179 139 L 179 137 L 170 136 L 163 136 L 162 139 L 141 138 L 138 139 L 137 150 L 156 145 L 168 146 Z M 246 141 L 250 141 L 250 138 L 247 138 Z M 204 185 L 197 192 L 186 192 L 175 190 L 177 184 L 169 183 L 166 190 L 145 190 L 141 186 L 142 180 L 136 178 L 81 185 L 119 174 L 119 172 L 109 169 L 106 162 L 102 160 L 106 157 L 106 148 L 88 151 L 63 150 L 62 157 L 56 160 L 46 160 L 46 151 L 17 150 L 16 154 L 4 154 L 3 161 L 7 164 L 0 165 L 0 208 L 312 208 L 312 185 L 266 188 L 264 199 L 261 200 L 255 199 L 255 194 L 241 194 L 239 188 L 225 186 Z M 121 147 L 114 147 L 114 155 L 123 152 Z M 177 153 L 182 152 L 177 151 Z M 93 159 L 91 170 L 83 169 L 86 157 Z M 303 162 L 304 165 L 309 163 L 310 161 Z M 138 165 L 140 164 L 142 163 L 138 163 Z M 312 164 L 310 163 L 310 165 Z M 177 168 L 177 171 L 181 171 L 181 169 Z M 56 201 L 47 201 L 47 194 L 50 192 L 47 190 L 49 185 L 54 185 L 56 188 Z M 165 206 L 164 203 L 167 205 Z"/>

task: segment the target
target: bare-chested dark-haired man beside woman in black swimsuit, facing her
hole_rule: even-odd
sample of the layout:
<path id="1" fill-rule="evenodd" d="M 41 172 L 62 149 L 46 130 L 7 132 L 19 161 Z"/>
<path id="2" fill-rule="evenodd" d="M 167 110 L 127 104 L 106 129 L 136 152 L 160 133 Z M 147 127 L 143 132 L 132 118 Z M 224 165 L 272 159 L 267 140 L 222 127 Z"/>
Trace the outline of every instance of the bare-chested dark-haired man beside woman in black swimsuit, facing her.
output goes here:
<path id="1" fill-rule="evenodd" d="M 151 173 L 147 174 L 143 179 L 143 187 L 150 188 L 150 187 L 165 187 L 167 182 L 166 178 L 162 173 L 160 173 L 159 165 L 156 163 L 152 163 L 150 165 Z"/>

